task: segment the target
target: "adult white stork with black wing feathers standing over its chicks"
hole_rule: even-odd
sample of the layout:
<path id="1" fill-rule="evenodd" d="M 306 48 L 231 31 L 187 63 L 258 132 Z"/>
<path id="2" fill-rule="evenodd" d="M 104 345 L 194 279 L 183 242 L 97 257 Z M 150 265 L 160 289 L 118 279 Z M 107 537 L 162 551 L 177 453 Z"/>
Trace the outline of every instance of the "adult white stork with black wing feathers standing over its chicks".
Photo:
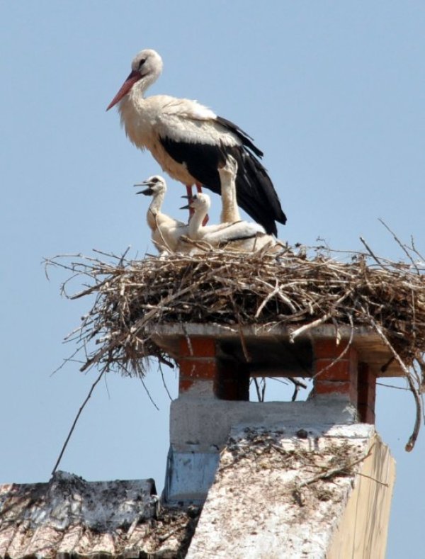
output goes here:
<path id="1" fill-rule="evenodd" d="M 218 169 L 232 155 L 237 161 L 237 203 L 266 232 L 277 235 L 276 221 L 286 222 L 278 195 L 257 157 L 263 152 L 239 126 L 215 115 L 197 101 L 168 95 L 145 98 L 162 72 L 162 58 L 152 50 L 139 52 L 131 72 L 107 111 L 116 103 L 131 142 L 149 149 L 162 169 L 186 186 L 206 186 L 220 194 Z M 257 156 L 257 157 L 255 157 Z"/>

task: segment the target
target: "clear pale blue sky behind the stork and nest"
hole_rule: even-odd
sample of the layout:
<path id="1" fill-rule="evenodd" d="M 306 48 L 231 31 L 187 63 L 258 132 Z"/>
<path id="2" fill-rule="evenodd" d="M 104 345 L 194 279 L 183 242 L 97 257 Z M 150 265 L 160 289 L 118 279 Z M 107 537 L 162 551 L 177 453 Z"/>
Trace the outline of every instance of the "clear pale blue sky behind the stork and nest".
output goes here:
<path id="1" fill-rule="evenodd" d="M 154 250 L 132 184 L 159 166 L 105 112 L 142 48 L 164 60 L 150 93 L 198 99 L 263 149 L 288 215 L 280 238 L 356 250 L 362 235 L 402 258 L 382 218 L 425 251 L 424 2 L 1 0 L 0 21 L 0 482 L 50 478 L 97 375 L 68 363 L 51 376 L 91 301 L 61 298 L 67 276 L 47 281 L 42 258 Z M 169 180 L 167 212 L 179 215 L 183 191 Z M 146 384 L 159 411 L 140 380 L 98 385 L 60 468 L 162 490 L 169 398 L 155 366 Z M 413 422 L 411 395 L 380 387 L 378 430 L 397 459 L 390 559 L 424 555 L 425 431 L 404 451 Z"/>

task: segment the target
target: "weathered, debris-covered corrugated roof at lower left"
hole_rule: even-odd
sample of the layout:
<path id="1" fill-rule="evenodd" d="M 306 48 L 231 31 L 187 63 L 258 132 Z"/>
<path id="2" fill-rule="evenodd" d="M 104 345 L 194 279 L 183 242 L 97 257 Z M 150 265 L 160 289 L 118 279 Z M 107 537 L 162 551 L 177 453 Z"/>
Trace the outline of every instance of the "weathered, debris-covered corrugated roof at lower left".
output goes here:
<path id="1" fill-rule="evenodd" d="M 161 507 L 154 480 L 0 485 L 0 558 L 179 558 L 199 510 Z"/>

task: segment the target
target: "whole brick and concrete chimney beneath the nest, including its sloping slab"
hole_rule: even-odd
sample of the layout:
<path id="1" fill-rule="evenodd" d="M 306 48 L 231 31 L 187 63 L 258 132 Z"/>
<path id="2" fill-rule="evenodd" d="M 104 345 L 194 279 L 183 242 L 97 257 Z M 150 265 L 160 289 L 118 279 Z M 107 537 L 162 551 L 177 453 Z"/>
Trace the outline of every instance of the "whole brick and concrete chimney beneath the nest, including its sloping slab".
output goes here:
<path id="1" fill-rule="evenodd" d="M 262 553 L 266 533 L 273 534 L 275 547 L 310 534 L 320 543 L 307 550 L 315 557 L 385 557 L 395 464 L 375 432 L 375 386 L 379 376 L 403 373 L 396 363 L 388 366 L 390 351 L 368 327 L 342 327 L 338 339 L 332 325 L 295 339 L 294 331 L 213 324 L 169 324 L 157 331 L 155 342 L 180 369 L 164 497 L 169 504 L 205 503 L 188 557 L 205 556 L 214 548 L 211 538 L 222 542 L 222 556 L 243 545 L 261 556 L 255 553 Z M 312 390 L 307 401 L 250 402 L 253 377 L 302 377 L 312 380 Z M 270 462 L 268 446 L 281 454 L 279 465 Z M 286 489 L 261 505 L 264 482 Z M 310 521 L 290 520 L 294 507 L 307 511 L 306 499 L 309 506 L 317 500 Z M 288 518 L 278 512 L 285 506 Z M 327 509 L 322 516 L 321 508 Z M 259 525 L 244 528 L 243 518 L 260 510 L 280 515 L 276 526 L 271 522 L 268 532 Z M 371 515 L 372 524 L 366 520 Z M 232 538 L 232 529 L 245 536 Z M 279 557 L 302 556 L 294 546 L 286 555 L 280 548 Z M 359 551 L 352 555 L 353 549 Z"/>

